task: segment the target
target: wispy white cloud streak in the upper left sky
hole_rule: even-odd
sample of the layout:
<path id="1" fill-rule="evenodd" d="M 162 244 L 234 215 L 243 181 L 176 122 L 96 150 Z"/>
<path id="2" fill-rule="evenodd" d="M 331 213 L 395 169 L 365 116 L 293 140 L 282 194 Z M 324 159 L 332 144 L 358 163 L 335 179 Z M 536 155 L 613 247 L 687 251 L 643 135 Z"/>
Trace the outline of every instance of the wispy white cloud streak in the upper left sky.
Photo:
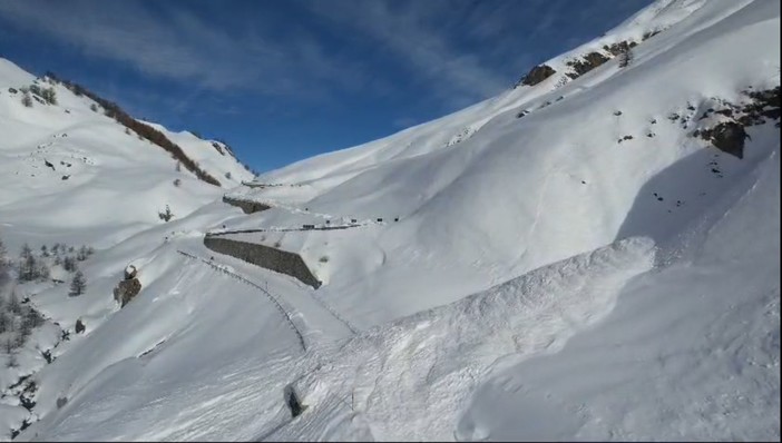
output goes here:
<path id="1" fill-rule="evenodd" d="M 187 8 L 165 2 L 2 1 L 0 19 L 87 56 L 209 90 L 291 95 L 313 80 L 350 88 L 361 85 L 364 69 L 355 61 L 325 55 L 310 35 L 275 41 L 254 29 L 215 27 Z"/>

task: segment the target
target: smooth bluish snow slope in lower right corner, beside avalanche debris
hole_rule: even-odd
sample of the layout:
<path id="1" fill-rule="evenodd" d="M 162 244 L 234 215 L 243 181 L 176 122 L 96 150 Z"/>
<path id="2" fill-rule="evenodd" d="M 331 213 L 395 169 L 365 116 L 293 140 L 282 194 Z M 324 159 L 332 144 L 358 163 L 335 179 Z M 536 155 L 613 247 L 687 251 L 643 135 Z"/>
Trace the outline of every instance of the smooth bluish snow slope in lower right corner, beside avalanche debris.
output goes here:
<path id="1" fill-rule="evenodd" d="M 779 440 L 779 147 L 737 185 L 604 323 L 488 377 L 458 436 Z"/>

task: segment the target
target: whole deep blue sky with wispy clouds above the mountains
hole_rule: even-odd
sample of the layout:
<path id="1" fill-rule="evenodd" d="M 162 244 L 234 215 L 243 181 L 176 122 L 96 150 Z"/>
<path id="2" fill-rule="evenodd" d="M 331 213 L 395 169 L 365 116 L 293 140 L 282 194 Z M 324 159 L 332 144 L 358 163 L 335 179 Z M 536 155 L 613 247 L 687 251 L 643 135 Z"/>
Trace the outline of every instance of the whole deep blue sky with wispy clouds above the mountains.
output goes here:
<path id="1" fill-rule="evenodd" d="M 2 0 L 0 57 L 258 171 L 511 87 L 651 0 Z"/>

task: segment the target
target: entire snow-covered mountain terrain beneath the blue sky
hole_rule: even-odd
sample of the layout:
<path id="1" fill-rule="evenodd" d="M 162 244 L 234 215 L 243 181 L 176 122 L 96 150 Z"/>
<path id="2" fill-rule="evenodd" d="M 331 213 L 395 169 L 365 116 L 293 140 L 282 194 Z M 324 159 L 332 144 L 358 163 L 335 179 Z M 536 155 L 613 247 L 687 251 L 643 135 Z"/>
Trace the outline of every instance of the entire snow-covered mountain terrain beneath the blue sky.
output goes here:
<path id="1" fill-rule="evenodd" d="M 0 168 L 20 176 L 0 178 L 16 186 L 0 235 L 97 252 L 81 295 L 14 287 L 47 321 L 0 372 L 2 424 L 20 440 L 776 441 L 779 41 L 779 2 L 658 0 L 498 97 L 225 203 L 86 98 L 28 109 L 3 87 Z M 0 82 L 30 83 L 8 66 Z M 22 124 L 38 132 L 6 129 Z M 65 181 L 60 160 L 78 168 Z M 253 254 L 317 284 L 235 258 Z"/>

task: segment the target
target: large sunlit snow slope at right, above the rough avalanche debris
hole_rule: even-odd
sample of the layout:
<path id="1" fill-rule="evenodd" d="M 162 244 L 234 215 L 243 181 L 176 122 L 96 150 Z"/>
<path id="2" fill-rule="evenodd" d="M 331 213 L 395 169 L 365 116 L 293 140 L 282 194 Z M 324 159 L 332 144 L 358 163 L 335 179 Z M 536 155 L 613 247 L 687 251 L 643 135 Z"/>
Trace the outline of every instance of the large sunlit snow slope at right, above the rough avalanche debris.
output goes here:
<path id="1" fill-rule="evenodd" d="M 733 107 L 779 87 L 780 9 L 772 1 L 661 1 L 589 45 L 663 22 L 626 67 L 612 59 L 559 87 L 516 88 L 262 175 L 258 185 L 274 186 L 231 196 L 273 208 L 226 227 L 266 228 L 234 238 L 300 253 L 324 282 L 323 297 L 364 326 L 616 238 L 667 242 L 779 139 L 779 100 L 760 111 L 769 115 L 762 125 Z M 704 139 L 729 122 L 744 131 L 736 129 L 742 158 Z M 451 142 L 465 128 L 469 137 Z M 301 230 L 353 219 L 361 228 Z M 418 296 L 423 291 L 428 298 Z"/>

